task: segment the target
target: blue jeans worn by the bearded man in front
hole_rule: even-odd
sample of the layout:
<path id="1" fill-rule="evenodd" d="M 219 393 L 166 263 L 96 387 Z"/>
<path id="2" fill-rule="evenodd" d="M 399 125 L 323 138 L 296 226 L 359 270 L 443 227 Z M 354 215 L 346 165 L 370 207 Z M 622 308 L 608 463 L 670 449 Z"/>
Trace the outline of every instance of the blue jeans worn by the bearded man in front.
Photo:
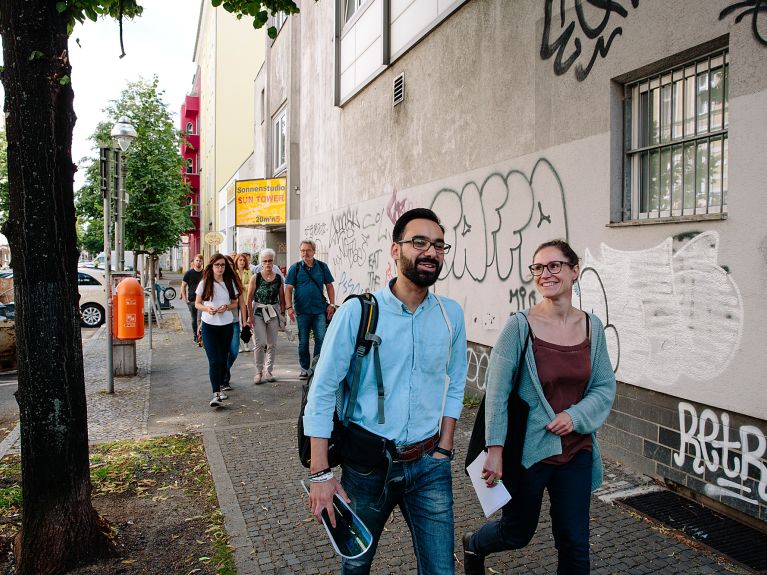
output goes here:
<path id="1" fill-rule="evenodd" d="M 384 525 L 396 505 L 410 528 L 419 575 L 454 572 L 453 484 L 448 458 L 424 455 L 411 463 L 395 462 L 386 499 L 381 499 L 386 469 L 350 463 L 342 469 L 341 485 L 351 499 L 350 506 L 373 534 L 367 553 L 341 562 L 342 575 L 370 573 Z"/>

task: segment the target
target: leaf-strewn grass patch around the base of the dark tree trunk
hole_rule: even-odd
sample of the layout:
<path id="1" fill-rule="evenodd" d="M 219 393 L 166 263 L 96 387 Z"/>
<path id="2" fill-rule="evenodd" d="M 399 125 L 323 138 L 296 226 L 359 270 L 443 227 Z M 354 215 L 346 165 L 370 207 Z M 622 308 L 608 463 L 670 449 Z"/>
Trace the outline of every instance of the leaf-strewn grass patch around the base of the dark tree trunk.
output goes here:
<path id="1" fill-rule="evenodd" d="M 155 550 L 154 560 L 168 555 L 176 561 L 165 567 L 165 572 L 180 572 L 179 561 L 183 557 L 189 562 L 183 566 L 183 573 L 215 573 L 236 575 L 232 547 L 224 528 L 224 518 L 218 508 L 215 486 L 208 467 L 202 440 L 198 435 L 173 435 L 140 441 L 115 441 L 91 446 L 90 476 L 94 505 L 112 509 L 107 517 L 117 517 L 117 533 L 129 533 L 133 522 L 119 519 L 115 508 L 121 508 L 130 498 L 141 498 L 148 512 L 168 514 L 169 505 L 174 501 L 196 501 L 198 513 L 194 517 L 182 518 L 187 528 L 193 527 L 194 537 L 186 547 L 168 547 Z M 8 455 L 0 460 L 0 536 L 11 538 L 18 532 L 21 523 L 21 466 L 18 455 Z M 180 494 L 183 494 L 180 495 Z M 127 499 L 126 499 L 127 498 Z M 103 500 L 102 504 L 98 501 Z M 148 506 L 148 507 L 147 507 Z M 152 515 L 151 517 L 154 517 Z M 177 525 L 177 524 L 174 524 Z M 183 536 L 177 535 L 182 527 L 170 526 L 171 543 Z M 127 531 L 126 531 L 127 530 Z M 127 536 L 127 535 L 126 535 Z M 120 535 L 118 535 L 120 537 Z M 148 551 L 148 549 L 147 549 Z M 193 557 L 192 557 L 193 556 Z M 141 559 L 134 554 L 121 558 L 117 570 L 109 565 L 94 566 L 97 573 L 145 573 L 162 569 L 161 565 L 150 563 L 140 566 Z M 128 570 L 120 570 L 130 565 Z M 196 569 L 202 567 L 202 569 Z M 146 569 L 149 569 L 148 571 Z M 5 571 L 2 571 L 5 572 Z M 90 573 L 90 571 L 88 571 Z"/>

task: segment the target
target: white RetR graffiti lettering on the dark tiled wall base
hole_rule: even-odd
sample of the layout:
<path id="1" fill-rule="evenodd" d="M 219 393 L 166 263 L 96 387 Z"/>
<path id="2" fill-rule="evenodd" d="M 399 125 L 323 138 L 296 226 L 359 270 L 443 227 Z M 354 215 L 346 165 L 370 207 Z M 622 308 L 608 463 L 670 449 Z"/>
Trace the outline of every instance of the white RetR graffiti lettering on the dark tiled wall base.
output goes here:
<path id="1" fill-rule="evenodd" d="M 767 502 L 767 466 L 762 461 L 767 453 L 767 439 L 753 425 L 730 427 L 726 412 L 717 414 L 704 409 L 700 415 L 694 405 L 679 403 L 679 452 L 674 463 L 682 467 L 692 457 L 692 471 L 703 477 L 706 471 L 721 470 L 724 476 L 715 484 L 707 483 L 709 497 L 733 497 L 756 505 Z M 689 452 L 689 453 L 688 453 Z M 754 481 L 748 482 L 749 478 Z"/>

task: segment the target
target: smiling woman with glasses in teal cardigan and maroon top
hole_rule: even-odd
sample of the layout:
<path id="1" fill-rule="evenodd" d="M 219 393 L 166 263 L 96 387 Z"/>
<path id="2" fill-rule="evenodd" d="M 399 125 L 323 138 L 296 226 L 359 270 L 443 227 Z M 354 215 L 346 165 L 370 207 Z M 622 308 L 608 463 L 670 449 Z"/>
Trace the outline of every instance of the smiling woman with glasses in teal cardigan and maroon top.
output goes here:
<path id="1" fill-rule="evenodd" d="M 507 485 L 513 497 L 501 519 L 463 536 L 464 570 L 471 575 L 484 575 L 491 553 L 527 545 L 538 526 L 544 489 L 551 503 L 557 573 L 590 569 L 589 503 L 602 482 L 596 432 L 615 398 L 615 375 L 602 322 L 572 305 L 579 273 L 573 249 L 562 240 L 541 244 L 529 269 L 541 301 L 507 320 L 490 355 L 482 479 L 494 487 L 515 464 L 503 461 L 503 446 L 518 369 L 518 393 L 530 407 L 522 467 L 518 484 Z"/>

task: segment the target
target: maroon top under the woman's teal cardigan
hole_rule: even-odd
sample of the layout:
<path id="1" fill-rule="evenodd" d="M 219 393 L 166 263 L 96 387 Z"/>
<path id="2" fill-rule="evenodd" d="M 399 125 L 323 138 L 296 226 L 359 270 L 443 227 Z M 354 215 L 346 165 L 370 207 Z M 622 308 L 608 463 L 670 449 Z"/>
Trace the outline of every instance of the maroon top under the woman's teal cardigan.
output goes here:
<path id="1" fill-rule="evenodd" d="M 586 315 L 586 339 L 577 345 L 557 345 L 533 337 L 533 355 L 543 395 L 554 413 L 560 413 L 583 399 L 591 377 L 590 321 Z M 571 432 L 560 437 L 562 453 L 543 460 L 562 465 L 581 450 L 591 451 L 591 435 Z"/>

